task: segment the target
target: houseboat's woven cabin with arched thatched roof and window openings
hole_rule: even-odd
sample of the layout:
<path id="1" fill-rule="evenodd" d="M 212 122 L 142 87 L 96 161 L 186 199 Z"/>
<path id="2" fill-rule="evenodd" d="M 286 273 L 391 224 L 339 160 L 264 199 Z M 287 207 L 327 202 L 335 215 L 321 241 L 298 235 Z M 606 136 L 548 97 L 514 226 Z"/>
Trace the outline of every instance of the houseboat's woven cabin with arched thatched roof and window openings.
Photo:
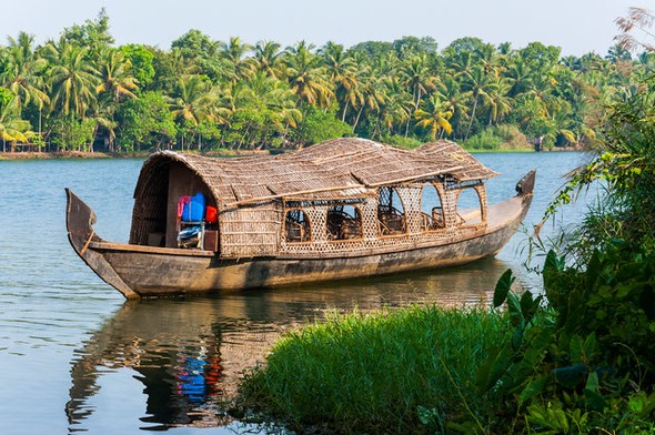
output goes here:
<path id="1" fill-rule="evenodd" d="M 487 226 L 484 180 L 497 175 L 457 144 L 407 151 L 335 139 L 275 156 L 159 152 L 134 192 L 130 243 L 213 251 L 220 259 L 349 256 L 473 239 Z M 202 194 L 216 218 L 185 222 Z M 198 225 L 198 243 L 181 243 Z"/>

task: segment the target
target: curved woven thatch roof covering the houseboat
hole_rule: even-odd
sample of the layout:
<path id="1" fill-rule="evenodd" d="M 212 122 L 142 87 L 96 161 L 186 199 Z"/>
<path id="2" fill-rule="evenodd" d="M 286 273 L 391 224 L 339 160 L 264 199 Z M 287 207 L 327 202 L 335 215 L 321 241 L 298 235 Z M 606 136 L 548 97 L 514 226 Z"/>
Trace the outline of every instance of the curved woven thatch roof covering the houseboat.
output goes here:
<path id="1" fill-rule="evenodd" d="M 379 185 L 441 174 L 458 181 L 497 175 L 454 142 L 434 142 L 407 151 L 370 140 L 343 138 L 275 156 L 215 159 L 159 152 L 143 164 L 137 192 L 171 161 L 181 162 L 196 173 L 221 210 L 273 198 L 361 196 Z"/>

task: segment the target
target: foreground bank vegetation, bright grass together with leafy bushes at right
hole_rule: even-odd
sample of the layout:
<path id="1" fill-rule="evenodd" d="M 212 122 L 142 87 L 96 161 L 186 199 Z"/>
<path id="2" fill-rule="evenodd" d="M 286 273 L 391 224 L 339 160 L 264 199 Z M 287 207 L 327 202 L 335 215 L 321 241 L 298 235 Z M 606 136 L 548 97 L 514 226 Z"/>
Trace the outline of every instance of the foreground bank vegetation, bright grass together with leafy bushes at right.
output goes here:
<path id="1" fill-rule="evenodd" d="M 350 399 L 347 384 L 352 381 L 337 374 L 346 373 L 351 361 L 365 358 L 370 350 L 376 350 L 369 356 L 372 368 L 386 362 L 385 353 L 394 347 L 376 348 L 371 340 L 379 332 L 387 333 L 386 322 L 392 330 L 403 331 L 414 323 L 407 313 L 451 320 L 456 315 L 414 307 L 369 321 L 372 331 L 344 328 L 342 325 L 355 322 L 345 317 L 295 333 L 273 348 L 266 365 L 245 377 L 245 406 L 252 399 L 293 426 L 328 422 L 329 429 L 337 433 L 655 433 L 654 102 L 655 77 L 651 77 L 634 95 L 612 103 L 591 162 L 572 174 L 546 210 L 546 218 L 560 212 L 562 204 L 574 201 L 592 183 L 599 183 L 604 191 L 575 232 L 560 239 L 564 242 L 548 246 L 535 234 L 533 246 L 545 254 L 538 267 L 543 294 L 514 293 L 512 271 L 507 271 L 496 284 L 493 308 L 462 317 L 467 326 L 461 332 L 444 326 L 441 318 L 435 321 L 444 328 L 443 335 L 440 330 L 423 331 L 421 351 L 412 351 L 411 361 L 389 377 L 375 380 L 382 392 L 390 392 L 386 406 L 393 413 L 359 412 L 359 426 L 353 428 L 335 418 L 347 404 L 325 401 L 337 404 L 326 408 L 322 398 L 336 394 L 344 402 Z M 407 324 L 396 325 L 399 318 Z M 491 340 L 487 334 L 473 341 L 468 337 L 467 327 L 480 322 L 494 324 L 487 331 Z M 316 335 L 321 340 L 314 340 Z M 461 346 L 453 348 L 453 341 L 458 340 Z M 337 354 L 356 356 L 333 366 L 329 361 L 332 352 L 326 350 L 335 344 L 347 348 Z M 445 358 L 449 363 L 434 364 Z M 316 397 L 311 413 L 291 406 L 301 394 L 293 383 L 305 363 L 325 370 L 313 375 L 321 380 L 319 384 L 303 380 Z M 421 374 L 422 384 L 415 383 L 415 390 L 404 396 L 393 395 L 392 385 L 414 383 L 414 367 L 426 364 L 430 368 Z M 331 378 L 333 375 L 337 376 Z M 439 382 L 432 384 L 435 380 Z M 431 396 L 434 385 L 450 391 Z M 415 397 L 434 401 L 413 401 Z"/>

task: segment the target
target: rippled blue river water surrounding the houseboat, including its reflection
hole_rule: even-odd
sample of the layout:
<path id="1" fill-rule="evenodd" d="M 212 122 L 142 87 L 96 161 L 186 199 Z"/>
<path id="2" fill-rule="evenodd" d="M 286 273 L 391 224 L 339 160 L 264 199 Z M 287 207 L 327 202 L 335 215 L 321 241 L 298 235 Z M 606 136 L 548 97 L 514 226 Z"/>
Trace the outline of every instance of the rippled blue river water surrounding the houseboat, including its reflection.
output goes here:
<path id="1" fill-rule="evenodd" d="M 527 227 L 541 221 L 563 174 L 584 161 L 572 152 L 476 156 L 502 173 L 487 184 L 491 203 L 537 169 Z M 510 267 L 540 291 L 522 266 L 526 235 L 518 232 L 495 259 L 432 273 L 125 303 L 70 247 L 63 189 L 95 210 L 103 239 L 127 242 L 141 164 L 0 161 L 0 433 L 263 433 L 226 417 L 221 404 L 284 331 L 334 310 L 486 303 Z M 567 208 L 546 234 L 584 210 Z"/>

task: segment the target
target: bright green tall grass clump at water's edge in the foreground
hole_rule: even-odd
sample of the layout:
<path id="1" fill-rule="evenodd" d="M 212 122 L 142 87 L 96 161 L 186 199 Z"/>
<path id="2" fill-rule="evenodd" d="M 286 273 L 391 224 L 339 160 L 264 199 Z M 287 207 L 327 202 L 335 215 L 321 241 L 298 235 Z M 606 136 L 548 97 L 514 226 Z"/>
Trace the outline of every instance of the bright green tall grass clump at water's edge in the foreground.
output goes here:
<path id="1" fill-rule="evenodd" d="M 442 432 L 463 414 L 484 424 L 493 397 L 472 383 L 508 328 L 503 314 L 435 306 L 333 314 L 280 341 L 245 376 L 242 398 L 292 428 Z M 432 427 L 421 423 L 425 411 Z"/>

